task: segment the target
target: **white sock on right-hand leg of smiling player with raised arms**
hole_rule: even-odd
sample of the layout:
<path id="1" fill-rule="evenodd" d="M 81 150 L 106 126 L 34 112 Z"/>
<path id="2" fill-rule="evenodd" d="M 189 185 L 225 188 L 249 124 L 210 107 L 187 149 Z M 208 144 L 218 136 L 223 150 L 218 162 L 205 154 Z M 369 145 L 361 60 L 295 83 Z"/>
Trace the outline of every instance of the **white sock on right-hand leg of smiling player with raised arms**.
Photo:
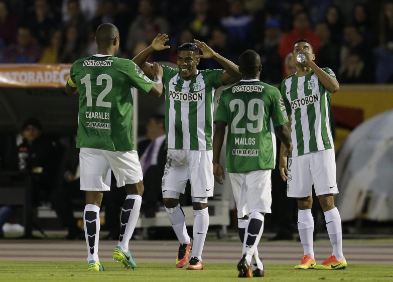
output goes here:
<path id="1" fill-rule="evenodd" d="M 209 228 L 209 212 L 207 208 L 203 210 L 194 210 L 194 241 L 192 243 L 192 256 L 202 260 L 203 246 L 207 229 Z"/>

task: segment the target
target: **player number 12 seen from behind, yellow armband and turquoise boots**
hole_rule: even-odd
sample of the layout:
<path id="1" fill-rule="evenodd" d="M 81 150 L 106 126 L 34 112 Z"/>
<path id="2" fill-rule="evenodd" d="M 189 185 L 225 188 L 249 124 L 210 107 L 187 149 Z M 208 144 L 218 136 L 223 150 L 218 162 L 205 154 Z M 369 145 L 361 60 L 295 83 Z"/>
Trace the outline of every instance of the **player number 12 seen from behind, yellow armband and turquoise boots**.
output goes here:
<path id="1" fill-rule="evenodd" d="M 151 69 L 154 81 L 127 59 L 114 57 L 119 48 L 118 30 L 112 24 L 97 28 L 96 55 L 79 59 L 71 66 L 67 94 L 79 93 L 77 147 L 80 148 L 80 189 L 86 191 L 83 214 L 89 271 L 103 270 L 98 259 L 99 210 L 103 191 L 110 189 L 110 171 L 117 187 L 124 186 L 126 199 L 121 212 L 121 230 L 113 259 L 135 268 L 128 249 L 144 192 L 142 168 L 133 140 L 133 92 L 160 96 L 162 68 Z"/>

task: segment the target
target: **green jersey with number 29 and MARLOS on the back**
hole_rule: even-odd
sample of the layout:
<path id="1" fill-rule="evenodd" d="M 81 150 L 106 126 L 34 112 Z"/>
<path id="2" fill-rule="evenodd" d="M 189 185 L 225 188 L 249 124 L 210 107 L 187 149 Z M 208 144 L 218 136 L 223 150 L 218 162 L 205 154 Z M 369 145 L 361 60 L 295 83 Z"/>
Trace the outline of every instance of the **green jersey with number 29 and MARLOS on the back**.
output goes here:
<path id="1" fill-rule="evenodd" d="M 279 89 L 258 79 L 240 80 L 221 92 L 214 121 L 227 122 L 228 172 L 274 169 L 274 126 L 288 122 L 283 111 Z"/>

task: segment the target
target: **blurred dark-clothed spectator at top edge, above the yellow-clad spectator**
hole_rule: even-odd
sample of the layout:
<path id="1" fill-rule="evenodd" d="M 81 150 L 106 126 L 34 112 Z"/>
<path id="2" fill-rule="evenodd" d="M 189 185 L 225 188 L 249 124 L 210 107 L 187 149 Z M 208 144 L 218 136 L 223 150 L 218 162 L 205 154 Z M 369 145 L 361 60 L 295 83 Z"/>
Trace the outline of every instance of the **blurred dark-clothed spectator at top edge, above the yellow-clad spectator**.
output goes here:
<path id="1" fill-rule="evenodd" d="M 47 46 L 52 28 L 60 26 L 59 15 L 52 11 L 47 0 L 35 0 L 34 11 L 27 15 L 28 26 L 41 46 Z"/>

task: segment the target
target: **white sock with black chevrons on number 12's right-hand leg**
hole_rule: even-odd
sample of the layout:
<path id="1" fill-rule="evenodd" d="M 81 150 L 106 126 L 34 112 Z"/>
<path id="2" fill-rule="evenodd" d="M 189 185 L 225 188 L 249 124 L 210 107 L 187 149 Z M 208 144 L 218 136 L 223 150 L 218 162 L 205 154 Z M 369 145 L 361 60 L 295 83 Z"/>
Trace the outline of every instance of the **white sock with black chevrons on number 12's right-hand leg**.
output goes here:
<path id="1" fill-rule="evenodd" d="M 133 236 L 135 226 L 141 210 L 142 197 L 140 195 L 127 195 L 120 215 L 120 236 L 117 245 L 128 250 L 128 243 Z"/>

